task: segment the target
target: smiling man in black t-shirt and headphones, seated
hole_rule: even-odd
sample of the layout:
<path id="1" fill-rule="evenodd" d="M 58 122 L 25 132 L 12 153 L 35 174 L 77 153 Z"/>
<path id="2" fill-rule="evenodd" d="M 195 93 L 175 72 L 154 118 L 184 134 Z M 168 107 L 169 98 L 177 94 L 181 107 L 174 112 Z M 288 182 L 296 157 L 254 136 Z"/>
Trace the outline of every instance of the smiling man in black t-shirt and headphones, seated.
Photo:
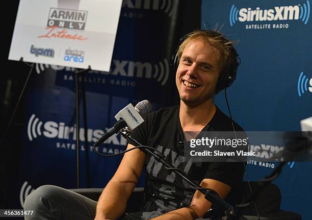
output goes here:
<path id="1" fill-rule="evenodd" d="M 148 113 L 132 136 L 143 145 L 161 151 L 169 163 L 184 170 L 202 187 L 214 189 L 220 197 L 235 204 L 240 200 L 243 163 L 193 162 L 184 156 L 184 132 L 232 131 L 233 127 L 243 131 L 213 102 L 215 94 L 236 77 L 239 64 L 236 50 L 218 31 L 194 31 L 181 40 L 174 60 L 180 104 Z M 128 141 L 127 149 L 135 145 Z M 146 184 L 142 211 L 124 213 L 144 167 Z M 190 188 L 163 164 L 135 149 L 125 153 L 97 203 L 60 187 L 42 186 L 27 197 L 24 209 L 34 210 L 42 219 L 200 218 L 212 204 L 203 194 Z"/>

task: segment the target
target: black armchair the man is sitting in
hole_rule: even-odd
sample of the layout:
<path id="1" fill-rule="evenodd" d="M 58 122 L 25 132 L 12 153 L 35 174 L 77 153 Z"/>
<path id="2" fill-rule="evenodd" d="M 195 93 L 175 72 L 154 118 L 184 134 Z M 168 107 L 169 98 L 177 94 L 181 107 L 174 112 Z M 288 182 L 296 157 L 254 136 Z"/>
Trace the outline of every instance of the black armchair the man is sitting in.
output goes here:
<path id="1" fill-rule="evenodd" d="M 258 182 L 250 182 L 251 190 L 255 191 L 259 187 Z M 103 189 L 70 189 L 74 192 L 84 195 L 94 201 L 98 198 Z M 250 194 L 250 189 L 247 182 L 244 182 L 242 201 Z M 131 197 L 128 200 L 126 212 L 138 212 L 143 204 L 144 188 L 135 188 Z M 255 201 L 261 220 L 301 220 L 301 215 L 295 212 L 283 211 L 280 209 L 281 193 L 279 188 L 274 184 L 269 184 L 259 194 Z M 257 220 L 257 212 L 254 204 L 245 207 L 241 213 L 249 220 Z"/>

